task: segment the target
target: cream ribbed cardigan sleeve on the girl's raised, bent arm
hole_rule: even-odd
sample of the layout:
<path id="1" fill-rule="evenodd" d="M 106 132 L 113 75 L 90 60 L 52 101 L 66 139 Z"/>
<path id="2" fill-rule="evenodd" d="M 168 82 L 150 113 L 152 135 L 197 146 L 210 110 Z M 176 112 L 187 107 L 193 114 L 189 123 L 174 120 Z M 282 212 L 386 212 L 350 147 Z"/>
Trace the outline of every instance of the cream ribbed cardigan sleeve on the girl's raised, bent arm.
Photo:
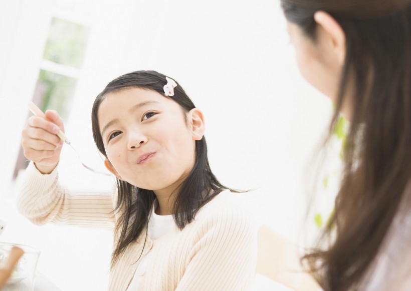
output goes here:
<path id="1" fill-rule="evenodd" d="M 55 222 L 113 229 L 113 195 L 113 191 L 71 192 L 59 183 L 57 167 L 50 174 L 42 174 L 30 162 L 17 208 L 37 225 Z"/>

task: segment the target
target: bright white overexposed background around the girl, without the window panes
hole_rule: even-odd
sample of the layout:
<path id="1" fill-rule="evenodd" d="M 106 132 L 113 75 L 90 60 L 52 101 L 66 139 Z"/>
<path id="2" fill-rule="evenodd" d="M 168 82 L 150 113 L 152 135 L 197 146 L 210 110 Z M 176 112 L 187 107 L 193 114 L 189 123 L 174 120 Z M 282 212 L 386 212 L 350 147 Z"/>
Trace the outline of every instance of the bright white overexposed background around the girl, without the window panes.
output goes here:
<path id="1" fill-rule="evenodd" d="M 206 116 L 209 159 L 223 184 L 245 195 L 259 217 L 290 240 L 304 231 L 305 174 L 331 103 L 299 75 L 279 1 L 0 0 L 2 240 L 42 250 L 39 270 L 62 290 L 104 290 L 111 233 L 34 226 L 15 210 L 12 173 L 51 17 L 80 10 L 91 27 L 66 135 L 86 163 L 103 169 L 91 105 L 121 74 L 156 70 L 177 80 Z M 81 9 L 79 9 L 81 7 Z M 106 188 L 112 178 L 83 169 L 65 146 L 61 180 Z M 6 202 L 5 202 L 6 201 Z"/>

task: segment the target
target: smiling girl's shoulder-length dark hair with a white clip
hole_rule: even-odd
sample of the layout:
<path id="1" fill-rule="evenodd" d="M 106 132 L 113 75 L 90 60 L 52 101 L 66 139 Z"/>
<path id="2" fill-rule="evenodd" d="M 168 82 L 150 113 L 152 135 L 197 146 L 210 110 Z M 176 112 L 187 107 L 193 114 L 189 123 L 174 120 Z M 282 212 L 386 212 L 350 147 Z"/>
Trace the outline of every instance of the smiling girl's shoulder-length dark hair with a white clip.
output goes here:
<path id="1" fill-rule="evenodd" d="M 137 71 L 120 76 L 106 86 L 96 97 L 93 104 L 91 121 L 93 138 L 98 150 L 107 158 L 100 133 L 98 110 L 107 93 L 130 88 L 153 90 L 164 95 L 163 86 L 167 83 L 165 75 L 155 71 Z M 177 82 L 176 82 L 177 83 Z M 194 104 L 177 83 L 174 96 L 171 98 L 187 113 L 195 108 Z M 120 218 L 116 224 L 116 233 L 119 234 L 118 243 L 113 251 L 111 265 L 113 266 L 127 245 L 140 237 L 146 230 L 149 215 L 152 211 L 155 195 L 152 190 L 138 188 L 128 182 L 117 179 L 118 201 L 114 211 L 119 211 Z M 178 228 L 182 229 L 190 223 L 196 212 L 211 201 L 223 189 L 223 186 L 211 171 L 207 157 L 207 143 L 203 137 L 195 141 L 195 163 L 187 178 L 175 190 L 173 217 Z M 232 189 L 231 189 L 232 190 Z M 232 190 L 236 192 L 235 190 Z M 146 239 L 144 238 L 139 239 Z"/>

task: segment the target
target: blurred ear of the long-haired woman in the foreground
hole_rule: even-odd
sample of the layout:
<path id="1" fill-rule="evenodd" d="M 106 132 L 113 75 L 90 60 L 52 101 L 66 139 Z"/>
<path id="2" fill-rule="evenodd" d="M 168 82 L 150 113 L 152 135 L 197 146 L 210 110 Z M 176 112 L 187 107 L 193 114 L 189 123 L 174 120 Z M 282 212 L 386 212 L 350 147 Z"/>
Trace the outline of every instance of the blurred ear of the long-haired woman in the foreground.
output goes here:
<path id="1" fill-rule="evenodd" d="M 335 56 L 338 65 L 342 66 L 345 60 L 344 30 L 331 15 L 324 11 L 317 11 L 314 20 L 322 28 L 319 37 Z"/>

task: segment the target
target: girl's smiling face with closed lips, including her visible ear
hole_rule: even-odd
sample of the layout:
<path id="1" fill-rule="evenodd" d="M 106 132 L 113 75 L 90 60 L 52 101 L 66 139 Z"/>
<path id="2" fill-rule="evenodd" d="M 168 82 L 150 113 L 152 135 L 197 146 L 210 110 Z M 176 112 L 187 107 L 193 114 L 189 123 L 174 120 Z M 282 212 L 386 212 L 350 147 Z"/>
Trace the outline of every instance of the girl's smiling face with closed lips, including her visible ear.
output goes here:
<path id="1" fill-rule="evenodd" d="M 98 111 L 106 166 L 117 178 L 143 189 L 173 191 L 195 162 L 202 114 L 186 114 L 155 91 L 130 88 L 105 95 Z"/>

